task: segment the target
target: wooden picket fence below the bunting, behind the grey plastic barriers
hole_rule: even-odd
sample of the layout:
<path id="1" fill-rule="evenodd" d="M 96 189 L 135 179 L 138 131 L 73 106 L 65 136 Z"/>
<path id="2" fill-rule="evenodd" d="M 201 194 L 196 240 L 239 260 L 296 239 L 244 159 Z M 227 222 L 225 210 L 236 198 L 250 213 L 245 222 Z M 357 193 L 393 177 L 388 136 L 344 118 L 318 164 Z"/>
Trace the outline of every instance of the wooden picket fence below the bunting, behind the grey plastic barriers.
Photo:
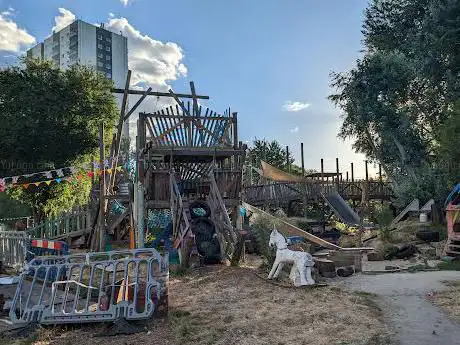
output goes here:
<path id="1" fill-rule="evenodd" d="M 64 239 L 84 235 L 91 231 L 91 227 L 91 210 L 85 207 L 46 219 L 26 232 L 33 238 Z"/>

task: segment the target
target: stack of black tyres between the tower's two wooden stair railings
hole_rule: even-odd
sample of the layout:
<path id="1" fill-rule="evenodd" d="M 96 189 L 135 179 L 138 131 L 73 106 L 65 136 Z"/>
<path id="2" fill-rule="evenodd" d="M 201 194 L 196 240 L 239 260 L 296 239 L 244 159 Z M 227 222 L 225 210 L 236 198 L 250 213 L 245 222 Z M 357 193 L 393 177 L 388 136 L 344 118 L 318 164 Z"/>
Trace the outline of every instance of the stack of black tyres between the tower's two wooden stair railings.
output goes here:
<path id="1" fill-rule="evenodd" d="M 205 201 L 194 201 L 190 204 L 189 210 L 198 253 L 204 258 L 205 263 L 220 261 L 220 243 L 216 226 L 210 218 L 209 205 Z"/>

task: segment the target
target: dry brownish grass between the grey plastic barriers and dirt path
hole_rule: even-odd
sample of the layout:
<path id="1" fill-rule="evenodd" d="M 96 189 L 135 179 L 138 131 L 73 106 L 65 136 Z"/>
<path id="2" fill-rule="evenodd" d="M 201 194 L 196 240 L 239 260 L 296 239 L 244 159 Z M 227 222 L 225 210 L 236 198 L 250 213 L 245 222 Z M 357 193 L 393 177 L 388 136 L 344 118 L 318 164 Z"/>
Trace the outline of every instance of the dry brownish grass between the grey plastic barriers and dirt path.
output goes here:
<path id="1" fill-rule="evenodd" d="M 92 338 L 94 326 L 85 326 L 36 344 L 388 344 L 374 295 L 283 288 L 251 267 L 205 267 L 172 278 L 169 296 L 168 322 L 156 321 L 148 334 Z"/>

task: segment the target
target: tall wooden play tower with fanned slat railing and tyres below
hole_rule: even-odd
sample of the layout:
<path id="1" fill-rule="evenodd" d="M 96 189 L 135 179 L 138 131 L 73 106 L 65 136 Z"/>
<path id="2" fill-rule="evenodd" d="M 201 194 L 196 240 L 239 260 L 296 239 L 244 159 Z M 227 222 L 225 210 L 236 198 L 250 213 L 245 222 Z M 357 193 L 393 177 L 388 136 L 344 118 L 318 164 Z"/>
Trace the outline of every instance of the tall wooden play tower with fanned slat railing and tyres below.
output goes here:
<path id="1" fill-rule="evenodd" d="M 193 82 L 190 87 L 195 96 Z M 237 113 L 229 109 L 218 114 L 204 109 L 196 97 L 185 104 L 170 93 L 174 107 L 139 114 L 134 186 L 138 246 L 147 212 L 170 209 L 181 262 L 195 246 L 202 257 L 213 247 L 213 258 L 218 248 L 219 259 L 232 259 L 238 255 L 235 228 L 246 151 L 238 141 Z M 205 209 L 206 219 L 194 214 L 194 205 Z"/>

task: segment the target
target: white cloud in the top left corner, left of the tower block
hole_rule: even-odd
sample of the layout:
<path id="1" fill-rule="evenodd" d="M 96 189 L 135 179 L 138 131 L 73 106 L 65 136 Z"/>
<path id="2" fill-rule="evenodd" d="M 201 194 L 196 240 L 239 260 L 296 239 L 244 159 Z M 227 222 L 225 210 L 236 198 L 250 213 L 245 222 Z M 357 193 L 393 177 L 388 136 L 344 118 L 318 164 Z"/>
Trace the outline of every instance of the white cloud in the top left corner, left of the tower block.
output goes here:
<path id="1" fill-rule="evenodd" d="M 0 13 L 0 51 L 19 53 L 22 48 L 34 44 L 36 40 L 10 18 L 13 14 L 12 7 Z"/>

